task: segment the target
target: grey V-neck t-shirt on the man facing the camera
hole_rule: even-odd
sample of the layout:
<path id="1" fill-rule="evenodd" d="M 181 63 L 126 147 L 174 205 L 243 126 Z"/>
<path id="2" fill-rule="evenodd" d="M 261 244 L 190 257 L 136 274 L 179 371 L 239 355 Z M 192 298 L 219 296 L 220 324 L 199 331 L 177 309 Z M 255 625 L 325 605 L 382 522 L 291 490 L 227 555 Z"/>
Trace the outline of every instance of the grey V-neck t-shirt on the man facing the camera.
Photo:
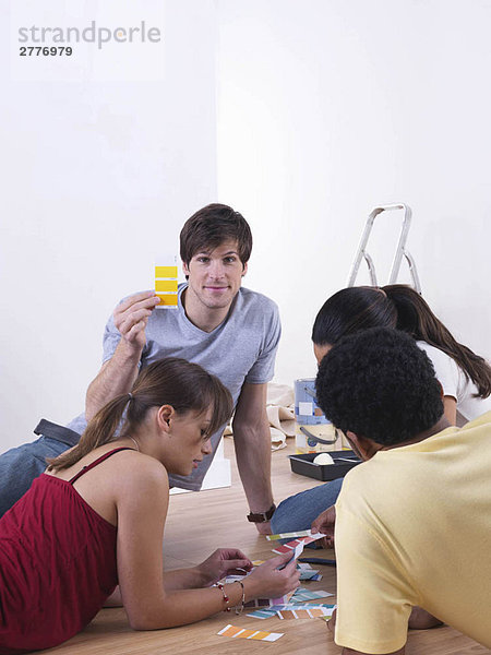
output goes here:
<path id="1" fill-rule="evenodd" d="M 266 296 L 241 287 L 225 321 L 213 332 L 203 332 L 191 323 L 182 307 L 182 291 L 187 287 L 188 284 L 179 285 L 177 309 L 152 312 L 140 365 L 147 366 L 163 357 L 182 357 L 199 364 L 227 386 L 236 405 L 244 382 L 263 384 L 273 378 L 282 332 L 278 308 Z M 112 357 L 120 338 L 111 317 L 104 333 L 103 364 Z M 68 427 L 82 433 L 85 415 L 77 416 Z M 171 485 L 201 489 L 224 428 L 212 437 L 213 454 L 205 456 L 190 476 L 170 475 Z"/>

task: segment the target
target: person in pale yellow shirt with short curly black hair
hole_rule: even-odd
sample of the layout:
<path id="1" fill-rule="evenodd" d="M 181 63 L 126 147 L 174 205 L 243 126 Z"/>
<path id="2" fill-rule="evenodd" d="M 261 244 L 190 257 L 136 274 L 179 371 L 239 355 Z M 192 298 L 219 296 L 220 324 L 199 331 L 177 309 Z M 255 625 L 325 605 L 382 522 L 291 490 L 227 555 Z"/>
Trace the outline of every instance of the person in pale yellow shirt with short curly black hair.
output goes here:
<path id="1" fill-rule="evenodd" d="M 427 354 L 390 329 L 335 345 L 316 396 L 363 460 L 335 505 L 336 644 L 402 655 L 408 624 L 445 622 L 491 647 L 491 413 L 450 426 Z"/>

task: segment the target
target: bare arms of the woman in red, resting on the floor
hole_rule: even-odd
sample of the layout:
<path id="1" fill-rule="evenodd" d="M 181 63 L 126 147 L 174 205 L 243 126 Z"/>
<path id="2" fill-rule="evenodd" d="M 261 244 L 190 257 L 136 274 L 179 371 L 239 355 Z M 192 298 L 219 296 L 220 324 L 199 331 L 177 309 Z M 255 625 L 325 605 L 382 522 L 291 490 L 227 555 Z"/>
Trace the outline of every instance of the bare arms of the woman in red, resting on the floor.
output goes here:
<path id="1" fill-rule="evenodd" d="M 164 574 L 161 544 L 168 507 L 168 481 L 165 469 L 148 464 L 129 471 L 125 485 L 118 490 L 118 576 L 121 597 L 130 624 L 135 630 L 157 630 L 199 621 L 226 607 L 217 587 L 180 588 L 177 585 L 209 584 L 233 569 L 242 555 L 223 549 L 188 571 Z M 298 586 L 296 561 L 291 555 L 278 556 L 255 569 L 243 580 L 246 600 L 277 597 Z M 249 560 L 248 560 L 249 561 Z M 285 565 L 287 564 L 287 565 Z M 285 565 L 282 570 L 278 567 Z M 166 580 L 167 577 L 167 580 Z M 240 605 L 242 587 L 227 584 L 229 605 Z"/>

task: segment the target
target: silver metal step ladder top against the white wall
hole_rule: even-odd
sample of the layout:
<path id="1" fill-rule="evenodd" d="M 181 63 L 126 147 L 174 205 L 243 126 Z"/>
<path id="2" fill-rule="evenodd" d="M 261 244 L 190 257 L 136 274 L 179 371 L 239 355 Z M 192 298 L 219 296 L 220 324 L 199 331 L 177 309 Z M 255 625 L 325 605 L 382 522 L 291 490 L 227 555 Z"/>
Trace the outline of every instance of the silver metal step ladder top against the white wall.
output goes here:
<path id="1" fill-rule="evenodd" d="M 397 276 L 398 276 L 399 270 L 400 270 L 400 264 L 402 264 L 403 257 L 404 257 L 409 265 L 409 272 L 410 272 L 411 279 L 412 279 L 412 286 L 418 291 L 418 294 L 421 294 L 421 285 L 419 283 L 418 271 L 416 270 L 415 260 L 412 259 L 412 255 L 406 250 L 407 236 L 409 233 L 409 227 L 411 225 L 411 209 L 409 207 L 409 205 L 404 204 L 403 202 L 397 203 L 397 204 L 381 205 L 371 211 L 369 217 L 367 218 L 367 223 L 364 225 L 363 234 L 361 236 L 361 240 L 358 246 L 358 251 L 355 257 L 355 261 L 352 263 L 351 271 L 349 273 L 347 286 L 355 286 L 355 281 L 358 275 L 358 270 L 360 267 L 361 260 L 363 260 L 363 259 L 368 265 L 370 281 L 372 283 L 372 286 L 379 286 L 379 283 L 376 281 L 376 274 L 375 274 L 375 265 L 373 263 L 372 258 L 367 252 L 367 243 L 370 238 L 370 233 L 372 231 L 373 223 L 375 222 L 376 216 L 382 214 L 382 212 L 392 212 L 394 210 L 404 210 L 404 218 L 403 218 L 403 225 L 400 227 L 399 240 L 398 240 L 397 248 L 395 251 L 394 261 L 392 263 L 391 274 L 388 276 L 387 284 L 396 284 Z"/>

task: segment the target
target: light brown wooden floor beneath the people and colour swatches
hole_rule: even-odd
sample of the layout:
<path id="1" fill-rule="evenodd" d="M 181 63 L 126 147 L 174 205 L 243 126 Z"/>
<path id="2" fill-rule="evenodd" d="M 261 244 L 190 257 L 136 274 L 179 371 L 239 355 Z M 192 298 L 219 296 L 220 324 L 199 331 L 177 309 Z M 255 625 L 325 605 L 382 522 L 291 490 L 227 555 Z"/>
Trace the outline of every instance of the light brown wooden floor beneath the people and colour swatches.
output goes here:
<path id="1" fill-rule="evenodd" d="M 251 559 L 271 557 L 271 544 L 248 524 L 248 511 L 233 457 L 233 442 L 226 439 L 226 456 L 232 460 L 232 487 L 172 496 L 165 536 L 166 569 L 193 565 L 204 560 L 215 548 L 236 546 Z M 287 454 L 294 448 L 273 453 L 273 484 L 275 498 L 280 499 L 315 486 L 314 480 L 290 472 Z M 315 557 L 333 557 L 332 551 L 316 550 Z M 321 567 L 323 579 L 302 583 L 312 590 L 336 593 L 335 569 Z M 452 575 L 453 572 L 448 571 Z M 458 575 L 458 572 L 454 572 Z M 334 599 L 328 599 L 335 603 Z M 218 636 L 227 623 L 241 628 L 284 632 L 275 643 L 251 642 Z M 259 620 L 233 614 L 219 614 L 207 620 L 183 628 L 154 632 L 133 632 L 123 609 L 103 609 L 79 635 L 58 646 L 44 651 L 57 655 L 236 655 L 267 653 L 268 655 L 335 655 L 340 653 L 321 619 Z M 491 653 L 475 641 L 451 628 L 410 631 L 406 647 L 408 655 L 478 655 Z"/>

